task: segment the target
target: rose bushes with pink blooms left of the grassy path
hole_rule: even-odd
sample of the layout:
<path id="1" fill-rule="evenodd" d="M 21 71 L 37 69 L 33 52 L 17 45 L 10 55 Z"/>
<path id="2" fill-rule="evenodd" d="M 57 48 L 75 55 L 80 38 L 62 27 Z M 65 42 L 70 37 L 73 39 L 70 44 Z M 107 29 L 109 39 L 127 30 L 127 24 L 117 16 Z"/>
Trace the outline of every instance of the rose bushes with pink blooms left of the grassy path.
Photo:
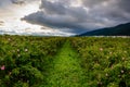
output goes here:
<path id="1" fill-rule="evenodd" d="M 39 87 L 64 42 L 60 37 L 0 36 L 0 87 Z"/>

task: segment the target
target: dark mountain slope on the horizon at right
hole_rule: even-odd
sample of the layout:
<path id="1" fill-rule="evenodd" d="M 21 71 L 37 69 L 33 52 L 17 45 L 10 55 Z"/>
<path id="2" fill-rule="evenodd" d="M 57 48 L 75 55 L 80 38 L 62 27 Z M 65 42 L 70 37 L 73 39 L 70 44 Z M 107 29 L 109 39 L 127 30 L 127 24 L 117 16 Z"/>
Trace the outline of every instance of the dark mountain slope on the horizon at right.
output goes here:
<path id="1" fill-rule="evenodd" d="M 130 36 L 130 23 L 83 33 L 79 36 Z"/>

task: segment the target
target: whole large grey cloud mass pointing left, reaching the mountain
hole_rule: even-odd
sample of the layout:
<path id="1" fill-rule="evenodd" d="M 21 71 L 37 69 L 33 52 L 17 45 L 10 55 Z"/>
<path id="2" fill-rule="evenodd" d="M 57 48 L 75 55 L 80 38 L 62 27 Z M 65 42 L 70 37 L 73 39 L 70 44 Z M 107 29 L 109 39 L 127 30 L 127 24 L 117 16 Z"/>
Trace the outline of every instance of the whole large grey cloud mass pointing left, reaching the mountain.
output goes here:
<path id="1" fill-rule="evenodd" d="M 80 5 L 72 5 L 80 1 Z M 130 0 L 41 0 L 40 11 L 22 20 L 32 24 L 72 28 L 74 32 L 130 22 Z"/>

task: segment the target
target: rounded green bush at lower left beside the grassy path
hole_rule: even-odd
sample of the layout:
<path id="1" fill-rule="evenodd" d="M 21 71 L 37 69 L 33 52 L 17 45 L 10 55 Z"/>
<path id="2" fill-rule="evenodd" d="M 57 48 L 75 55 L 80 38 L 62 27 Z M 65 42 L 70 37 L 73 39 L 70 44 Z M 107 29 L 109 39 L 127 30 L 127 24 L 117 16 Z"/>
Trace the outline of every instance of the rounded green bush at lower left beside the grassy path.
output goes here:
<path id="1" fill-rule="evenodd" d="M 21 78 L 21 79 L 20 79 Z M 23 65 L 21 67 L 12 70 L 11 80 L 12 82 L 25 82 L 29 85 L 39 84 L 43 79 L 43 75 L 39 70 L 31 65 Z"/>

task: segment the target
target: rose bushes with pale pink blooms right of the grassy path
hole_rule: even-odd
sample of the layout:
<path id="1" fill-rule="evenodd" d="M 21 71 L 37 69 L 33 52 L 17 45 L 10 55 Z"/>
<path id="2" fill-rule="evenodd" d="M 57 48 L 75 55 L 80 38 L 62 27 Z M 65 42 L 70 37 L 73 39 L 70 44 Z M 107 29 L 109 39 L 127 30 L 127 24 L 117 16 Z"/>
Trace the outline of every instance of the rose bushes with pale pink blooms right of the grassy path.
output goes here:
<path id="1" fill-rule="evenodd" d="M 130 86 L 130 38 L 75 37 L 70 41 L 88 87 Z"/>

